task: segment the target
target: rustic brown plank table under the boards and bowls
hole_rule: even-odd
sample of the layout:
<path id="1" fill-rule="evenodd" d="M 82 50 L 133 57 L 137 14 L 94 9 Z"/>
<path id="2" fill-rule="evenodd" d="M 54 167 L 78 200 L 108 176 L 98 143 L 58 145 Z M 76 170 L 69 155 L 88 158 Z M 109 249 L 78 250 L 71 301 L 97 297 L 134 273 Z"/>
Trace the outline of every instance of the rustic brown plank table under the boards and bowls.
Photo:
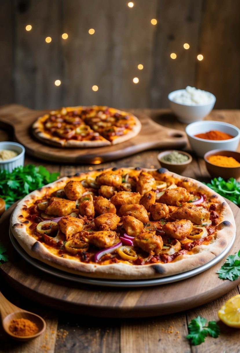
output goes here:
<path id="1" fill-rule="evenodd" d="M 174 116 L 164 110 L 144 109 L 145 114 L 160 124 L 184 130 L 185 125 L 176 120 Z M 240 111 L 238 110 L 214 110 L 206 120 L 220 120 L 229 122 L 240 127 Z M 11 132 L 0 131 L 0 140 L 12 140 Z M 193 162 L 184 171 L 183 175 L 201 181 L 210 180 L 202 158 L 196 155 L 186 146 L 193 157 Z M 128 158 L 118 161 L 103 163 L 101 167 L 146 167 L 158 168 L 157 154 L 159 150 L 141 152 Z M 45 163 L 40 160 L 33 160 L 26 156 L 25 164 L 32 163 L 44 165 L 51 172 L 59 171 L 61 176 L 75 174 L 77 171 L 88 171 L 97 169 L 100 166 L 80 165 L 59 165 Z M 44 276 L 44 273 L 43 273 Z M 180 312 L 167 316 L 156 316 L 150 318 L 119 319 L 119 318 L 95 318 L 81 315 L 69 314 L 66 312 L 49 309 L 48 306 L 26 300 L 24 296 L 13 291 L 11 285 L 5 280 L 0 280 L 0 290 L 5 297 L 15 305 L 25 310 L 36 312 L 42 315 L 47 323 L 45 334 L 37 339 L 20 343 L 12 341 L 0 328 L 0 352 L 88 352 L 88 353 L 159 353 L 159 352 L 240 352 L 238 329 L 232 329 L 221 323 L 217 317 L 217 311 L 230 297 L 239 294 L 236 287 L 223 297 L 214 300 L 206 305 L 198 306 L 195 309 Z M 66 308 L 64 308 L 66 309 Z M 191 346 L 185 338 L 188 334 L 187 325 L 191 319 L 201 315 L 208 321 L 215 320 L 221 329 L 217 339 L 207 337 L 206 342 L 200 346 Z"/>

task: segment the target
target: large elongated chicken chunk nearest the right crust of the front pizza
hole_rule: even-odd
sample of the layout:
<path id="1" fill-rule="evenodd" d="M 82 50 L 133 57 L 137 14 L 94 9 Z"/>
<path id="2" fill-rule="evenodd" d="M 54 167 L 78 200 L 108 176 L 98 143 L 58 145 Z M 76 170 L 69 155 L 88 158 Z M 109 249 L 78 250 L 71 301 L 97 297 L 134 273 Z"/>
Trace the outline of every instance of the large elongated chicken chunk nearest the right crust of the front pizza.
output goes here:
<path id="1" fill-rule="evenodd" d="M 190 220 L 192 223 L 201 224 L 204 221 L 209 220 L 210 213 L 202 206 L 185 204 L 171 213 L 171 217 L 174 219 L 183 218 L 185 220 Z"/>

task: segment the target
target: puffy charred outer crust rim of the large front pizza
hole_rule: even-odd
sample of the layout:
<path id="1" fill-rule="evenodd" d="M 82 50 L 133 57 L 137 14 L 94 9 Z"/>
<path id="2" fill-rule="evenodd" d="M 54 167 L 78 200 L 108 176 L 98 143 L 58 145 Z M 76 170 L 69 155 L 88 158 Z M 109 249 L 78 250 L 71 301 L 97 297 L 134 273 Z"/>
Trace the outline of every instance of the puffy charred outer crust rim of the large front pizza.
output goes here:
<path id="1" fill-rule="evenodd" d="M 131 168 L 123 168 L 124 170 Z M 111 170 L 106 169 L 106 170 Z M 144 169 L 149 170 L 149 169 Z M 152 171 L 153 169 L 151 169 Z M 188 178 L 192 181 L 199 191 L 207 193 L 208 195 L 216 195 L 217 200 L 222 204 L 221 222 L 217 226 L 218 231 L 215 233 L 215 238 L 208 245 L 199 245 L 192 249 L 192 255 L 180 255 L 174 262 L 171 263 L 154 263 L 147 265 L 131 265 L 130 263 L 120 262 L 108 265 L 81 263 L 76 259 L 62 258 L 50 252 L 35 238 L 31 237 L 26 231 L 26 224 L 21 223 L 19 217 L 24 207 L 32 204 L 36 199 L 41 198 L 49 191 L 54 192 L 65 186 L 69 180 L 79 180 L 79 178 L 86 177 L 86 175 L 95 176 L 97 171 L 88 173 L 78 173 L 73 177 L 64 177 L 36 190 L 26 197 L 24 197 L 17 205 L 12 213 L 10 220 L 10 227 L 14 237 L 23 249 L 33 258 L 38 259 L 52 267 L 61 269 L 68 273 L 73 273 L 81 276 L 104 279 L 118 279 L 118 280 L 139 280 L 139 279 L 154 279 L 166 276 L 172 276 L 183 273 L 195 268 L 198 268 L 210 260 L 218 256 L 231 243 L 235 236 L 236 226 L 234 216 L 229 205 L 222 196 L 216 194 L 208 186 L 200 183 L 197 180 Z M 169 175 L 178 179 L 185 179 L 178 174 L 170 173 Z"/>

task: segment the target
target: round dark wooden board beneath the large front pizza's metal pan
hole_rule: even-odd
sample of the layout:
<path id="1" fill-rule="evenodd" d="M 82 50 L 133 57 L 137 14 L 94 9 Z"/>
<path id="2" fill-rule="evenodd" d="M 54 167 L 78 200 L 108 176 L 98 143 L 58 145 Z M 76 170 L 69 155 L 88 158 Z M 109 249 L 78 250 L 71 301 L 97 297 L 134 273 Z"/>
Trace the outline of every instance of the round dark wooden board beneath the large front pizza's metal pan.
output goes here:
<path id="1" fill-rule="evenodd" d="M 240 209 L 228 201 L 236 221 L 236 240 L 226 255 L 240 249 Z M 70 313 L 101 317 L 149 317 L 188 310 L 208 303 L 231 291 L 240 283 L 220 280 L 219 263 L 189 279 L 167 285 L 139 288 L 91 286 L 59 279 L 33 267 L 13 248 L 9 237 L 9 220 L 14 205 L 0 219 L 0 239 L 7 248 L 9 261 L 0 273 L 19 293 L 40 304 Z"/>

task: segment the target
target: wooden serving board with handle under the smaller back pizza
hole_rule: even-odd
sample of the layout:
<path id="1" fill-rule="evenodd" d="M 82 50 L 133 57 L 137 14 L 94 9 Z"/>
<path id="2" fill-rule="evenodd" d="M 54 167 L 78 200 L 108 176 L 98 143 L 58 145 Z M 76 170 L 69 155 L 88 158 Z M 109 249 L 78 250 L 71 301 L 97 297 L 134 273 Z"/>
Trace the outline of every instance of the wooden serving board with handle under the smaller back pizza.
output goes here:
<path id="1" fill-rule="evenodd" d="M 12 127 L 17 142 L 24 145 L 27 154 L 51 162 L 77 164 L 99 164 L 113 161 L 135 153 L 159 148 L 181 149 L 187 144 L 185 132 L 164 127 L 149 116 L 136 114 L 142 124 L 140 133 L 117 145 L 99 148 L 58 148 L 40 142 L 31 133 L 33 122 L 50 110 L 32 110 L 17 104 L 0 108 L 0 127 Z M 130 109 L 134 114 L 134 109 Z"/>

